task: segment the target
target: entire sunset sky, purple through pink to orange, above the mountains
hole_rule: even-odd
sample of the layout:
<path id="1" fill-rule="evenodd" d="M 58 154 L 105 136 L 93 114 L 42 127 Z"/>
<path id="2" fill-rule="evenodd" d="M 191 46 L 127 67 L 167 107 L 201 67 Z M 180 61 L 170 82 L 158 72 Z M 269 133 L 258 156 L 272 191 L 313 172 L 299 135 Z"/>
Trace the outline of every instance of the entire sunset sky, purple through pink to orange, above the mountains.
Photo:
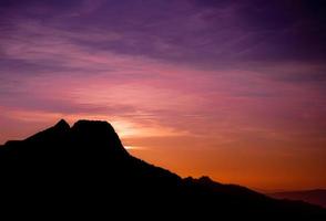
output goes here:
<path id="1" fill-rule="evenodd" d="M 326 188 L 323 0 L 1 0 L 0 144 L 110 122 L 182 177 Z"/>

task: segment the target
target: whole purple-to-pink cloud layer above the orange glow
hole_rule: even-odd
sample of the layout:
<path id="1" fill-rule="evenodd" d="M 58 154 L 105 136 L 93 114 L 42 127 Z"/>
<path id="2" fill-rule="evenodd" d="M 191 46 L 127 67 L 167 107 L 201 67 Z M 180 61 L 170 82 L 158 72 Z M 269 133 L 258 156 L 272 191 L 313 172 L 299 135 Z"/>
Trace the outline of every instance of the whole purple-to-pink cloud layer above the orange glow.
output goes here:
<path id="1" fill-rule="evenodd" d="M 3 3 L 21 13 L 0 23 L 0 101 L 45 118 L 110 115 L 225 140 L 318 134 L 323 17 L 303 6 Z"/>

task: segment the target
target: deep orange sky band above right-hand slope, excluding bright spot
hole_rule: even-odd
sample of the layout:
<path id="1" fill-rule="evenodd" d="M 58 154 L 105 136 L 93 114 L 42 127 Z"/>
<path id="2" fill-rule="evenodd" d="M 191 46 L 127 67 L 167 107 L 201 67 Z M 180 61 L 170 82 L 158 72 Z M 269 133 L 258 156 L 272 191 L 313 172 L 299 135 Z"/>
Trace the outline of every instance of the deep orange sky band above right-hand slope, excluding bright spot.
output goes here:
<path id="1" fill-rule="evenodd" d="M 309 151 L 296 155 L 292 155 L 291 150 L 284 154 L 279 149 L 257 151 L 255 146 L 240 144 L 235 147 L 217 147 L 218 144 L 214 140 L 202 143 L 204 147 L 198 148 L 194 145 L 198 140 L 193 138 L 164 139 L 135 138 L 126 139 L 126 144 L 143 145 L 141 147 L 146 148 L 129 151 L 182 177 L 210 176 L 223 183 L 238 183 L 259 191 L 323 189 L 326 185 L 325 177 L 320 176 L 325 159 L 320 150 L 313 154 L 315 157 L 312 160 L 307 157 L 308 154 L 312 155 Z M 201 141 L 203 140 L 198 143 Z"/>

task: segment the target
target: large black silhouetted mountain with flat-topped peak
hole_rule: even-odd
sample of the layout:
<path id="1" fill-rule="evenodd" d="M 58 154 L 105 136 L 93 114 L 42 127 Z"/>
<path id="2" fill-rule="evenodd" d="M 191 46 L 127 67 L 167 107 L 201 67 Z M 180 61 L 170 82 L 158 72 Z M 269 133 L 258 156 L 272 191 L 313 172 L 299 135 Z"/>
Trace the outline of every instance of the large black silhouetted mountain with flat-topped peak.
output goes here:
<path id="1" fill-rule="evenodd" d="M 276 200 L 208 177 L 182 179 L 150 165 L 131 156 L 106 122 L 79 120 L 70 127 L 60 120 L 24 140 L 6 143 L 0 177 L 0 202 L 22 214 L 326 220 L 326 210 L 317 206 Z"/>

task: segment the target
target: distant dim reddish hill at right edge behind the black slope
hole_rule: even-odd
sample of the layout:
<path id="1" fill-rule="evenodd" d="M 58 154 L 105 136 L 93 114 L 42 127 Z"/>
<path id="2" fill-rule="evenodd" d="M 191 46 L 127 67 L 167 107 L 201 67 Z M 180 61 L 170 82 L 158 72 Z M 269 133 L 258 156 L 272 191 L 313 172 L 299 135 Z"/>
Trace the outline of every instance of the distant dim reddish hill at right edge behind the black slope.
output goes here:
<path id="1" fill-rule="evenodd" d="M 326 208 L 326 190 L 325 189 L 273 192 L 273 193 L 268 193 L 268 196 L 274 197 L 276 199 L 302 200 L 313 204 L 319 204 Z"/>

